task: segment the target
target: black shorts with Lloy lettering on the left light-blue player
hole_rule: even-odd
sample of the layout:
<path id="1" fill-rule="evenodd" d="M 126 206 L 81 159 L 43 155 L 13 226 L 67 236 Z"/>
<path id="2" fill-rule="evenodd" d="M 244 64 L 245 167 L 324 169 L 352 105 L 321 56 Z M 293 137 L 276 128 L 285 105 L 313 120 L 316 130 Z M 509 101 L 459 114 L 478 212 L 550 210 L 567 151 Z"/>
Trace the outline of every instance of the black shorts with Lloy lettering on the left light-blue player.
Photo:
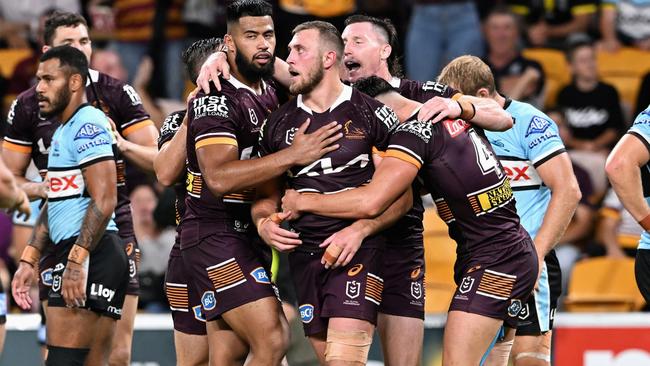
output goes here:
<path id="1" fill-rule="evenodd" d="M 61 295 L 62 277 L 70 248 L 76 240 L 76 237 L 72 237 L 55 246 L 57 264 L 52 271 L 48 306 L 65 307 Z M 99 315 L 120 319 L 128 281 L 128 260 L 120 237 L 114 232 L 106 232 L 99 240 L 97 248 L 90 253 L 85 308 Z"/>

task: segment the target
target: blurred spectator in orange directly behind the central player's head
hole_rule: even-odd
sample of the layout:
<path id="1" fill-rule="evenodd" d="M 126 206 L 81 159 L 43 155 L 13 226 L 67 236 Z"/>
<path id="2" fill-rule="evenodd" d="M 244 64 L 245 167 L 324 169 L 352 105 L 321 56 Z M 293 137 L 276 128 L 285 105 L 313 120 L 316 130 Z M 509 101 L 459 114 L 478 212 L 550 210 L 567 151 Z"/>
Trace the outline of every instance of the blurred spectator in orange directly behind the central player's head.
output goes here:
<path id="1" fill-rule="evenodd" d="M 277 0 L 273 3 L 276 4 L 273 16 L 277 44 L 275 54 L 283 59 L 288 55 L 287 45 L 292 38 L 291 32 L 298 24 L 324 20 L 342 31 L 345 18 L 357 8 L 355 0 Z"/>

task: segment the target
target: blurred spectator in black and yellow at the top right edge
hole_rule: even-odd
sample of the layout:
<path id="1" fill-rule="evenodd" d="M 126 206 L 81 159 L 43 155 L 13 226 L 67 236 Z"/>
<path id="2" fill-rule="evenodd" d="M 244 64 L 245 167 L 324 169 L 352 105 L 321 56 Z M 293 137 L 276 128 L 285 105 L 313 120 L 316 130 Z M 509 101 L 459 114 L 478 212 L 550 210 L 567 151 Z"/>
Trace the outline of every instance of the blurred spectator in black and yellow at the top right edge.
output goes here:
<path id="1" fill-rule="evenodd" d="M 511 9 L 528 24 L 534 47 L 562 47 L 573 33 L 586 33 L 598 10 L 595 0 L 509 0 Z"/>

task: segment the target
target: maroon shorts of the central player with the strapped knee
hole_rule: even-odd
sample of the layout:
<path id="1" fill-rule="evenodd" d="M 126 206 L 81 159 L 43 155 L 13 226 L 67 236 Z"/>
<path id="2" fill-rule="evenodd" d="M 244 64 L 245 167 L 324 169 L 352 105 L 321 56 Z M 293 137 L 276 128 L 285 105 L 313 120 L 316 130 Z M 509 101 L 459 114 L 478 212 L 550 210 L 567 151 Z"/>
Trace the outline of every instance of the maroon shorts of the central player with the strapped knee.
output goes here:
<path id="1" fill-rule="evenodd" d="M 291 277 L 306 336 L 327 330 L 329 318 L 352 318 L 377 323 L 381 303 L 382 249 L 359 249 L 345 267 L 325 269 L 321 255 L 289 254 Z"/>

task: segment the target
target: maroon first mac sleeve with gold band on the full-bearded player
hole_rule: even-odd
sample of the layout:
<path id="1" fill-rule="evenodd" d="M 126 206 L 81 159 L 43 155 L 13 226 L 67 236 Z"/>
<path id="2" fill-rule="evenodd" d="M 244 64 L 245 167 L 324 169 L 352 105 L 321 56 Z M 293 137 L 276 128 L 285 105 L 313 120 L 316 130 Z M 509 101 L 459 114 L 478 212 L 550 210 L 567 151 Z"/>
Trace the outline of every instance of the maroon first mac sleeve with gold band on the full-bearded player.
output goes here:
<path id="1" fill-rule="evenodd" d="M 190 101 L 190 133 L 196 150 L 209 145 L 237 144 L 234 101 L 223 94 L 199 94 Z"/>

